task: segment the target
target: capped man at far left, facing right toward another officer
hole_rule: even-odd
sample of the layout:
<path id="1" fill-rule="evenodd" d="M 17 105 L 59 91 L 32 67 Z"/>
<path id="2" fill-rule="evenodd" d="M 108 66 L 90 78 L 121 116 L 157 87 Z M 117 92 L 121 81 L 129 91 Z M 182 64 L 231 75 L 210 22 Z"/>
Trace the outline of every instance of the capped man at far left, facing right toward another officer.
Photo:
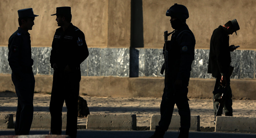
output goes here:
<path id="1" fill-rule="evenodd" d="M 31 41 L 29 30 L 32 30 L 34 15 L 32 8 L 18 10 L 19 27 L 8 41 L 8 62 L 12 69 L 12 82 L 18 96 L 15 135 L 28 135 L 33 120 L 33 97 L 35 78 L 32 71 Z"/>

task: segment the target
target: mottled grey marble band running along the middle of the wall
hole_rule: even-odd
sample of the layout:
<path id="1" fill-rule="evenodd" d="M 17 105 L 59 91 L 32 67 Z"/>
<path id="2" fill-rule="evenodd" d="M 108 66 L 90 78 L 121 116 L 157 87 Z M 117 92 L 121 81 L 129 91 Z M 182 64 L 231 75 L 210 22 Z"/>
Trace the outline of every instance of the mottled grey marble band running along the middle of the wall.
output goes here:
<path id="1" fill-rule="evenodd" d="M 34 75 L 52 75 L 50 68 L 51 47 L 32 47 Z M 8 47 L 0 46 L 0 73 L 11 74 L 8 65 Z M 208 49 L 196 49 L 192 62 L 191 78 L 212 78 L 207 73 Z M 89 57 L 82 62 L 82 76 L 117 77 L 164 77 L 160 74 L 164 63 L 162 49 L 89 48 Z M 132 58 L 136 55 L 138 59 Z M 232 79 L 256 80 L 256 51 L 235 50 L 231 52 Z M 137 68 L 136 68 L 137 67 Z M 131 74 L 133 76 L 131 76 Z"/>

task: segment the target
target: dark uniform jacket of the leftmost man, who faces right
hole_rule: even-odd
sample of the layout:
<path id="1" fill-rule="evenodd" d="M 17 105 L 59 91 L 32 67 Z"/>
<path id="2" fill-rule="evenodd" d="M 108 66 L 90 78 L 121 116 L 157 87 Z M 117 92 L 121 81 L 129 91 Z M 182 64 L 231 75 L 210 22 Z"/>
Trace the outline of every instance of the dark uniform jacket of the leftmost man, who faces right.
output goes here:
<path id="1" fill-rule="evenodd" d="M 31 58 L 31 41 L 29 32 L 18 27 L 8 41 L 8 62 L 12 73 L 31 73 L 33 59 Z"/>

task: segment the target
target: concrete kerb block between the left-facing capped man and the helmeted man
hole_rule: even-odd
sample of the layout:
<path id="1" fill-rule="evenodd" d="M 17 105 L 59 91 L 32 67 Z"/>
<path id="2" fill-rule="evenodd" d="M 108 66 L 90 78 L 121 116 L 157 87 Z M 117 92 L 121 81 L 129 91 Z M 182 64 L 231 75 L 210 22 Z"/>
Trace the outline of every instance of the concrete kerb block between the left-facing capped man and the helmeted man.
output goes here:
<path id="1" fill-rule="evenodd" d="M 136 130 L 136 115 L 88 115 L 86 129 Z"/>

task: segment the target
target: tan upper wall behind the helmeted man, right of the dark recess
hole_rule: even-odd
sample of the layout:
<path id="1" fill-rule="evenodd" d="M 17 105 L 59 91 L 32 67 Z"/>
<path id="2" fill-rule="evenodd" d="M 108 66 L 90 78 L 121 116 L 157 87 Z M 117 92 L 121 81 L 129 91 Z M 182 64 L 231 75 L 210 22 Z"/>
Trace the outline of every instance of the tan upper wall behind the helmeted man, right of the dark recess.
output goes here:
<path id="1" fill-rule="evenodd" d="M 237 36 L 231 35 L 230 45 L 256 48 L 255 0 L 143 0 L 144 47 L 163 47 L 163 32 L 173 30 L 165 13 L 174 3 L 188 8 L 187 24 L 195 35 L 197 49 L 210 48 L 213 30 L 232 19 L 237 19 L 240 30 Z"/>

